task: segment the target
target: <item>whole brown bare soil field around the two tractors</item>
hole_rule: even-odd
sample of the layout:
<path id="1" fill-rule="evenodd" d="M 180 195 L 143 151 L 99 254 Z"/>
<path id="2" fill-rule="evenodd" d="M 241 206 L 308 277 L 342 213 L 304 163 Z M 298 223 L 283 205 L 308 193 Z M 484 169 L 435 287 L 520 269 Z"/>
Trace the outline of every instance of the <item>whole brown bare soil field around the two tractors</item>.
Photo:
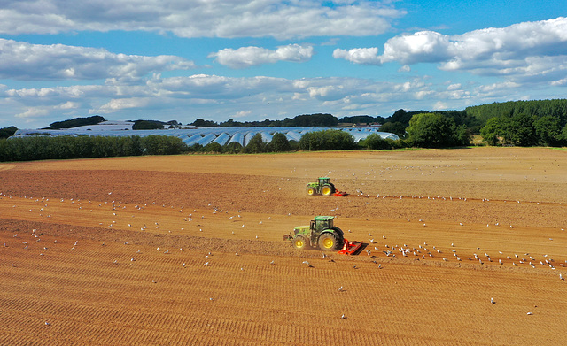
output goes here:
<path id="1" fill-rule="evenodd" d="M 564 344 L 565 229 L 564 150 L 0 163 L 0 344 Z"/>

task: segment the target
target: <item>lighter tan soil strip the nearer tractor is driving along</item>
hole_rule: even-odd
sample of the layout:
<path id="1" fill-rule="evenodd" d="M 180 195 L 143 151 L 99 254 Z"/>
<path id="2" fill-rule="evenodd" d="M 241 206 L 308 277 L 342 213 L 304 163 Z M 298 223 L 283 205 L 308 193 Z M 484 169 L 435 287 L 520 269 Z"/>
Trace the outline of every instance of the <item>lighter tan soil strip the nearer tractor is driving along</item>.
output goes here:
<path id="1" fill-rule="evenodd" d="M 420 203 L 421 201 L 415 202 Z M 44 210 L 41 211 L 40 207 Z M 173 249 L 172 251 L 178 249 L 208 249 L 231 252 L 244 250 L 257 254 L 272 253 L 287 256 L 293 255 L 294 252 L 289 248 L 289 245 L 281 242 L 281 236 L 307 219 L 296 216 L 280 215 L 272 218 L 266 214 L 229 213 L 210 206 L 208 210 L 191 208 L 183 210 L 156 205 L 138 206 L 73 199 L 49 200 L 27 196 L 0 197 L 0 212 L 4 217 L 18 217 L 19 215 L 19 219 L 35 219 L 55 223 L 66 222 L 71 224 L 69 227 L 80 225 L 106 228 L 106 231 L 97 231 L 96 235 L 104 233 L 118 235 L 119 230 L 140 229 L 143 232 L 131 232 L 129 234 L 122 232 L 121 241 L 129 241 L 135 244 L 136 237 L 147 233 L 151 234 L 150 238 L 153 238 L 151 242 L 157 247 L 161 246 L 164 249 L 167 247 L 167 250 Z M 424 224 L 420 223 L 419 220 L 404 222 L 401 225 L 395 220 L 385 220 L 384 222 L 358 220 L 354 223 L 348 222 L 349 220 L 353 222 L 353 219 L 338 221 L 346 223 L 346 227 L 343 227 L 346 231 L 346 237 L 351 238 L 351 240 L 367 242 L 368 246 L 365 248 L 365 252 L 369 251 L 372 256 L 377 257 L 384 257 L 384 251 L 392 251 L 394 256 L 396 254 L 400 256 L 400 253 L 396 251 L 405 248 L 408 251 L 402 253 L 402 255 L 408 254 L 408 258 L 414 259 L 441 260 L 442 258 L 453 258 L 453 255 L 455 258 L 456 255 L 459 255 L 462 259 L 469 259 L 477 254 L 478 257 L 484 259 L 486 264 L 500 263 L 499 261 L 501 261 L 505 265 L 511 265 L 512 262 L 518 265 L 520 264 L 518 261 L 523 258 L 525 265 L 527 265 L 530 261 L 526 260 L 527 256 L 523 255 L 517 258 L 512 258 L 512 256 L 537 250 L 538 252 L 535 252 L 537 253 L 535 255 L 537 262 L 534 263 L 545 261 L 546 258 L 542 258 L 544 255 L 563 262 L 564 251 L 560 244 L 567 241 L 567 235 L 563 230 L 553 228 L 542 230 L 540 227 L 528 227 L 526 233 L 518 232 L 518 228 L 494 225 L 491 227 L 481 225 L 456 227 L 456 225 L 452 226 L 439 222 L 429 224 L 428 221 L 430 226 L 423 227 Z M 353 227 L 355 231 L 351 232 L 350 227 Z M 365 233 L 365 231 L 368 231 L 368 233 Z M 72 232 L 72 230 L 69 232 Z M 477 242 L 460 243 L 456 247 L 447 246 L 454 242 L 453 234 L 455 232 L 469 235 L 471 240 L 476 239 Z M 380 239 L 381 235 L 384 238 L 387 235 L 387 239 Z M 211 237 L 214 238 L 213 241 L 209 239 Z M 504 242 L 496 240 L 496 238 L 501 237 L 504 237 Z M 150 238 L 145 237 L 144 242 L 149 242 L 148 239 Z M 539 250 L 539 247 L 523 246 L 523 243 L 530 239 L 532 241 L 537 240 L 540 243 L 548 242 L 544 247 L 545 252 Z M 555 239 L 555 242 L 550 241 L 553 239 Z M 240 242 L 235 242 L 236 240 Z M 262 242 L 263 240 L 269 242 Z M 430 245 L 422 246 L 422 244 L 427 243 L 423 242 L 424 240 L 430 242 Z M 444 244 L 444 246 L 439 244 Z M 463 250 L 465 252 L 462 252 Z M 492 262 L 489 258 L 483 256 L 485 251 L 490 253 Z M 309 253 L 304 256 L 315 255 Z"/>

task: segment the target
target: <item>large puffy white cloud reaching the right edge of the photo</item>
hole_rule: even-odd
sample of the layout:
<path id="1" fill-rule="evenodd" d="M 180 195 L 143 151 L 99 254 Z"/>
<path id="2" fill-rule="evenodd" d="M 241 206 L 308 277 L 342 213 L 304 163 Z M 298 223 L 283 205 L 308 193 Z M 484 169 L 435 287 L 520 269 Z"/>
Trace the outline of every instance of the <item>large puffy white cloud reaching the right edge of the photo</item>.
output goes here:
<path id="1" fill-rule="evenodd" d="M 335 50 L 333 57 L 367 65 L 436 63 L 445 71 L 557 83 L 567 73 L 567 18 L 489 27 L 463 35 L 419 31 L 392 37 L 384 43 L 382 55 L 377 55 L 376 48 L 357 48 Z"/>

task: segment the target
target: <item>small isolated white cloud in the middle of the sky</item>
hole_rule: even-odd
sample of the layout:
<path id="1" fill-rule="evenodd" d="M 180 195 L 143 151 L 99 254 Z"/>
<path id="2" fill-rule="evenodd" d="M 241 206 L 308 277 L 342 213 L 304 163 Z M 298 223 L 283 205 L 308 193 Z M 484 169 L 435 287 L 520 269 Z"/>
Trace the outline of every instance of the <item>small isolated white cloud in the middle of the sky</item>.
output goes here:
<path id="1" fill-rule="evenodd" d="M 260 47 L 241 47 L 237 50 L 224 49 L 209 54 L 208 58 L 215 58 L 221 65 L 230 68 L 246 68 L 256 65 L 275 64 L 278 61 L 306 62 L 313 56 L 312 46 L 290 44 L 268 50 Z"/>

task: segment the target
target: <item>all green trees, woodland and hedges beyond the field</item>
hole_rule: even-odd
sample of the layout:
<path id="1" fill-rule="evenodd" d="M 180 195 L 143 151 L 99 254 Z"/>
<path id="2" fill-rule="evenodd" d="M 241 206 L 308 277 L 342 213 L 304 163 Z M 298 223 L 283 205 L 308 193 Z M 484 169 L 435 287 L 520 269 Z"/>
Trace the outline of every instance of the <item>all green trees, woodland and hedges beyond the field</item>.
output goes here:
<path id="1" fill-rule="evenodd" d="M 71 128 L 105 121 L 103 117 L 58 121 L 49 128 Z M 243 148 L 239 143 L 205 147 L 187 146 L 181 139 L 167 135 L 140 137 L 36 136 L 11 137 L 16 127 L 0 129 L 0 161 L 26 161 L 62 158 L 105 158 L 136 155 L 183 153 L 261 153 L 292 150 L 392 150 L 399 148 L 454 148 L 470 145 L 473 134 L 480 134 L 487 145 L 567 146 L 567 100 L 516 101 L 467 107 L 463 111 L 395 111 L 392 116 L 359 115 L 337 119 L 331 114 L 304 114 L 293 119 L 220 124 L 197 119 L 196 127 L 338 127 L 341 124 L 381 124 L 381 131 L 392 132 L 400 140 L 385 140 L 377 134 L 354 142 L 353 136 L 337 130 L 322 130 L 303 135 L 299 142 L 275 134 L 263 142 L 260 134 Z M 180 127 L 175 120 L 136 120 L 134 129 Z M 9 139 L 8 139 L 9 138 Z"/>

